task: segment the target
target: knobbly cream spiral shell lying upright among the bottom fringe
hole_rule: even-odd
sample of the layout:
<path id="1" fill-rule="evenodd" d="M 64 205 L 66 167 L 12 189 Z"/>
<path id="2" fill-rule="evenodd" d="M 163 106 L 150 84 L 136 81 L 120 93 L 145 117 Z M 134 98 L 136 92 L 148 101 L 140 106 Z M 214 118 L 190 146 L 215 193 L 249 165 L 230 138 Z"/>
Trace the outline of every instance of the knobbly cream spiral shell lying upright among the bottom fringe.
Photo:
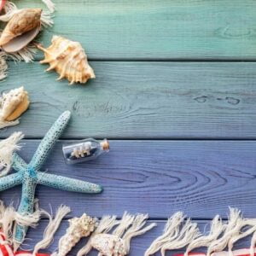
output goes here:
<path id="1" fill-rule="evenodd" d="M 85 213 L 80 218 L 71 218 L 66 234 L 59 241 L 58 256 L 65 256 L 84 236 L 90 236 L 96 228 L 96 218 Z"/>

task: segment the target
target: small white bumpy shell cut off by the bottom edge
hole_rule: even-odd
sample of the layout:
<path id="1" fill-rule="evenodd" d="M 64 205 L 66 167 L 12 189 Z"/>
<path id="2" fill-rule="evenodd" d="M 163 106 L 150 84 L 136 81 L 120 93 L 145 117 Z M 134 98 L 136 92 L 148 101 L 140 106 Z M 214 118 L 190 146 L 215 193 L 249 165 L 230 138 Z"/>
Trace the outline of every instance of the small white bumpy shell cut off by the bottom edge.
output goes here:
<path id="1" fill-rule="evenodd" d="M 119 236 L 111 234 L 97 234 L 93 236 L 90 245 L 98 250 L 102 256 L 125 256 L 127 254 L 125 251 L 125 241 L 119 238 Z"/>

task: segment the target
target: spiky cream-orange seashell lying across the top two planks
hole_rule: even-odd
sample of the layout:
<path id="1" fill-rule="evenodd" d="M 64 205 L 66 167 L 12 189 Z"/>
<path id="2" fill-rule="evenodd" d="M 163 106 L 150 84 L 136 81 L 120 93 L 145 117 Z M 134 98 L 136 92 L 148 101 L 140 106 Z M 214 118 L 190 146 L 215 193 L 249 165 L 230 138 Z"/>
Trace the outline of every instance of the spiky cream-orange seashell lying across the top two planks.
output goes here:
<path id="1" fill-rule="evenodd" d="M 79 42 L 54 36 L 49 48 L 38 45 L 44 51 L 45 59 L 40 63 L 49 63 L 46 71 L 55 69 L 60 74 L 58 80 L 66 78 L 70 84 L 84 84 L 88 79 L 95 79 L 93 69 L 87 61 L 87 56 Z"/>

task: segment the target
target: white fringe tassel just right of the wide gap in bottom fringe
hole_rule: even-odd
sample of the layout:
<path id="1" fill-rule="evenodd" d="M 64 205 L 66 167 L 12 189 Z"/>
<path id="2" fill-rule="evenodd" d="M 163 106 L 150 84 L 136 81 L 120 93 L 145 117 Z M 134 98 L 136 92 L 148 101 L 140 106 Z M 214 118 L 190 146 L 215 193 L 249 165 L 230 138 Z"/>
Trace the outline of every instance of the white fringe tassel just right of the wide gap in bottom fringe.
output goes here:
<path id="1" fill-rule="evenodd" d="M 159 236 L 152 242 L 146 253 L 144 253 L 144 256 L 149 256 L 158 252 L 167 241 L 176 239 L 179 231 L 178 228 L 180 224 L 183 223 L 184 218 L 185 216 L 183 215 L 183 212 L 174 213 L 172 217 L 168 219 L 163 235 Z"/>

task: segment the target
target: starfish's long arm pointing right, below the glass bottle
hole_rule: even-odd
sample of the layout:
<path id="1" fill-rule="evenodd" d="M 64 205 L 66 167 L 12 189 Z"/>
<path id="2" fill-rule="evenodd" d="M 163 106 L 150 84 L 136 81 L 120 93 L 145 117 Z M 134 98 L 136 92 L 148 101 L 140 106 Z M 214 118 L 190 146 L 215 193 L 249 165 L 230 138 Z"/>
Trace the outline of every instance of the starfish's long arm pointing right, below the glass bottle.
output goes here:
<path id="1" fill-rule="evenodd" d="M 81 181 L 79 179 L 57 176 L 45 172 L 38 172 L 38 184 L 55 189 L 62 189 L 80 193 L 96 194 L 102 192 L 102 186 Z"/>

